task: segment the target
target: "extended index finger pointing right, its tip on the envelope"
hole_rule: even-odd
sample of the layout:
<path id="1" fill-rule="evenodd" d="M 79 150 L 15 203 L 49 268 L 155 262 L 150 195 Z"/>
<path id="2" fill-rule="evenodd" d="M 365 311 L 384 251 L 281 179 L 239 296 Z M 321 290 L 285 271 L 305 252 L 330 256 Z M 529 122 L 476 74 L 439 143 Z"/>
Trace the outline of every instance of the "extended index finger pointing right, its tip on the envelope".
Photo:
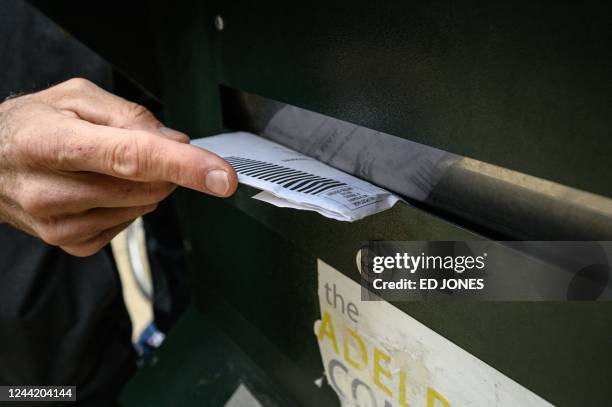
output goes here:
<path id="1" fill-rule="evenodd" d="M 48 145 L 58 169 L 90 171 L 141 182 L 166 181 L 200 192 L 229 196 L 234 169 L 204 149 L 141 130 L 114 129 L 65 118 L 65 131 Z M 70 137 L 65 137 L 70 134 Z"/>

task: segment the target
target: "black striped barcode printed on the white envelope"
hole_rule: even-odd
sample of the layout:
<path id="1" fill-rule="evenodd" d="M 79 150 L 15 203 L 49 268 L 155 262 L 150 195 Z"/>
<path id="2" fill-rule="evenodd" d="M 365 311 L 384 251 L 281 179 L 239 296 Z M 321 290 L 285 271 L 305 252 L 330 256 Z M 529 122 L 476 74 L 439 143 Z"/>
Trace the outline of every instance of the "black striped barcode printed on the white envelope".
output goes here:
<path id="1" fill-rule="evenodd" d="M 295 170 L 282 165 L 243 157 L 223 157 L 240 175 L 257 178 L 278 184 L 291 191 L 318 195 L 332 188 L 348 186 L 331 178 L 319 177 L 305 171 Z"/>

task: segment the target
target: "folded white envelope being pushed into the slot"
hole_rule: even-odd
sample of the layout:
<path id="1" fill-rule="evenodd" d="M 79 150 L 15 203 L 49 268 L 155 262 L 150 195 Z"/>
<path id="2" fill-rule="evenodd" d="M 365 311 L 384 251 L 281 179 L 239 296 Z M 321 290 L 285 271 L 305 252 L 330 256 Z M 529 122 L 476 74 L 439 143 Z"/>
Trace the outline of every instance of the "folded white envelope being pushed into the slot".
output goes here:
<path id="1" fill-rule="evenodd" d="M 192 140 L 226 159 L 238 181 L 266 194 L 254 198 L 279 207 L 311 210 L 355 221 L 391 208 L 400 198 L 320 161 L 251 133 Z"/>

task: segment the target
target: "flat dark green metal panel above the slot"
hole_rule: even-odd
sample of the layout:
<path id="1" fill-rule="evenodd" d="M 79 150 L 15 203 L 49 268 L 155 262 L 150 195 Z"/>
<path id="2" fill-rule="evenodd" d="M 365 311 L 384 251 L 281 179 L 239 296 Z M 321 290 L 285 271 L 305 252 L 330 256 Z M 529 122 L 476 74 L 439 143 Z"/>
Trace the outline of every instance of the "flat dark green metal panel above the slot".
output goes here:
<path id="1" fill-rule="evenodd" d="M 610 6 L 212 2 L 220 83 L 612 196 Z M 212 16 L 202 24 L 211 24 Z"/>

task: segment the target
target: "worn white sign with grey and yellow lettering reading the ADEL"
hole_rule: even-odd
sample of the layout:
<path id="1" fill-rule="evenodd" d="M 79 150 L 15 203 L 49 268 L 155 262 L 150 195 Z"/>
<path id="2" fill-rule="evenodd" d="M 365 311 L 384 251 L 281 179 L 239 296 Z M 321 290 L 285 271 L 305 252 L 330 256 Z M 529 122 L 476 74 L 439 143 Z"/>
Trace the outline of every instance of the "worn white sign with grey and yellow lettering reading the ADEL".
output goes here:
<path id="1" fill-rule="evenodd" d="M 343 407 L 540 407 L 536 394 L 318 261 L 315 322 L 328 383 Z"/>

